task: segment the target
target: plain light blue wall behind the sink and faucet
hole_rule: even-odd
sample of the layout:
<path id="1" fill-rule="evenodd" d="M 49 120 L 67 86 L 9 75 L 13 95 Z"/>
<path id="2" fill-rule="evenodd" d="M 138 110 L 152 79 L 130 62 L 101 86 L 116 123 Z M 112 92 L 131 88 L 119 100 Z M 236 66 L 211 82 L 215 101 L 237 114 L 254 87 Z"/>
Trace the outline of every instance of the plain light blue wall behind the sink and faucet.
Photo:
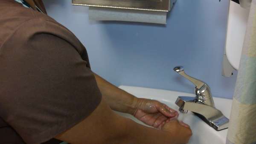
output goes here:
<path id="1" fill-rule="evenodd" d="M 207 82 L 216 97 L 232 98 L 236 73 L 221 76 L 228 0 L 177 0 L 167 25 L 97 22 L 71 0 L 44 0 L 49 16 L 70 29 L 89 54 L 92 70 L 116 86 L 194 92 L 172 69 Z"/>

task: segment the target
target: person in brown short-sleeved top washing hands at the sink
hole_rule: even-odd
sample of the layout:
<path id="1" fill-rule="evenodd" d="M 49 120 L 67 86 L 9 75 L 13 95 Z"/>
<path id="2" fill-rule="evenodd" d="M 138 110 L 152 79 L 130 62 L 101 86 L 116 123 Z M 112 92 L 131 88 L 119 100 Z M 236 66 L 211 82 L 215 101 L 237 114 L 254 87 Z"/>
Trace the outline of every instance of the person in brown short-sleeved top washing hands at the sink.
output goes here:
<path id="1" fill-rule="evenodd" d="M 192 135 L 174 109 L 92 72 L 84 46 L 41 0 L 1 0 L 0 67 L 0 144 L 185 144 Z"/>

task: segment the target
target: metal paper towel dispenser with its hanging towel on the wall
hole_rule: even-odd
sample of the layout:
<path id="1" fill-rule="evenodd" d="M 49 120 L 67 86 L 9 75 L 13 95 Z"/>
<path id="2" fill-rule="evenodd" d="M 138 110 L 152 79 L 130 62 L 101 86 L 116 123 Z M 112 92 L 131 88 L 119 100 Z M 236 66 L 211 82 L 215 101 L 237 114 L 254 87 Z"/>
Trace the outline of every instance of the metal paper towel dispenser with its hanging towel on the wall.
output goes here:
<path id="1" fill-rule="evenodd" d="M 115 20 L 166 24 L 167 12 L 176 0 L 72 0 L 89 6 L 90 20 Z"/>

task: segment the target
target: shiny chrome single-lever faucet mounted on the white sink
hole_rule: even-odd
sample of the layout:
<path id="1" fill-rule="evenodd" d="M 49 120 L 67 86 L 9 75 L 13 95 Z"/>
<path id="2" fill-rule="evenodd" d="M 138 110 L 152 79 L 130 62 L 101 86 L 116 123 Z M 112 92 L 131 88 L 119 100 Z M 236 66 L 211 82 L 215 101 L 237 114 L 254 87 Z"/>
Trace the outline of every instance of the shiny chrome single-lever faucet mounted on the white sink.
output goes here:
<path id="1" fill-rule="evenodd" d="M 177 98 L 175 104 L 179 107 L 179 111 L 183 113 L 193 112 L 217 131 L 227 129 L 229 119 L 215 108 L 208 84 L 187 75 L 183 66 L 176 66 L 173 70 L 195 84 L 195 97 L 179 96 Z"/>

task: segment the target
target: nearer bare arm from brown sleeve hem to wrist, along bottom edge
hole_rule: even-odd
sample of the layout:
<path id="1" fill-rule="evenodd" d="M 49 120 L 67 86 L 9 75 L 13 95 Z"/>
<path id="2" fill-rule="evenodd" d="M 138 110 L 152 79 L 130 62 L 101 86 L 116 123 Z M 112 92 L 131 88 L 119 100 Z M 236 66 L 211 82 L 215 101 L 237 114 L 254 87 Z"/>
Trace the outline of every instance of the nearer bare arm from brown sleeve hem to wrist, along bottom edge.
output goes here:
<path id="1" fill-rule="evenodd" d="M 71 144 L 174 144 L 175 136 L 124 118 L 102 100 L 91 115 L 55 138 Z"/>

